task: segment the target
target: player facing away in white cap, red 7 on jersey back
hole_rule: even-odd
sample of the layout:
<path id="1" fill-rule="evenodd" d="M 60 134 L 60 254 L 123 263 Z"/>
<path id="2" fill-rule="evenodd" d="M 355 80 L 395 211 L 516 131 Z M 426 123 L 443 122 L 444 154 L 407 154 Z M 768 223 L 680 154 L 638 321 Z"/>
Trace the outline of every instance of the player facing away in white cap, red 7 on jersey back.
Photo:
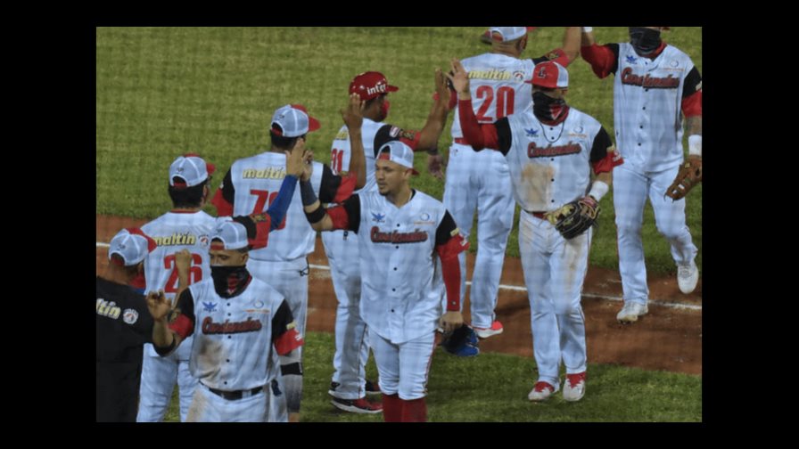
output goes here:
<path id="1" fill-rule="evenodd" d="M 361 113 L 358 96 L 351 95 L 350 106 L 342 111 L 342 117 L 345 127 L 353 133 L 360 132 Z M 278 108 L 269 131 L 271 151 L 233 163 L 213 200 L 219 215 L 258 213 L 265 208 L 283 182 L 286 163 L 284 151 L 295 145 L 304 149 L 305 135 L 318 128 L 317 119 L 310 117 L 301 105 Z M 297 147 L 294 151 L 298 151 Z M 353 159 L 352 172 L 345 176 L 335 175 L 330 167 L 318 162 L 312 162 L 308 168 L 309 173 L 304 176 L 309 176 L 309 183 L 325 202 L 341 202 L 365 182 L 363 158 L 358 161 Z M 302 211 L 300 193 L 294 192 L 285 221 L 269 235 L 268 247 L 252 250 L 247 262 L 247 268 L 253 276 L 267 282 L 286 298 L 301 336 L 305 335 L 308 311 L 307 257 L 314 250 L 316 236 Z M 301 348 L 298 348 L 280 362 L 291 421 L 299 420 L 301 361 Z"/>

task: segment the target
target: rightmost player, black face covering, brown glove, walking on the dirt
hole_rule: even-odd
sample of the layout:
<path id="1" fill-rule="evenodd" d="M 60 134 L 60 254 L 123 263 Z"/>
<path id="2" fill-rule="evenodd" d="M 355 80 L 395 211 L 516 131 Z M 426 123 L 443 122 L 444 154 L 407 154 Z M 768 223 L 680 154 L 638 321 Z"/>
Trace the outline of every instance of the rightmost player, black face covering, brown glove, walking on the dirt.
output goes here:
<path id="1" fill-rule="evenodd" d="M 663 42 L 669 27 L 630 27 L 630 42 L 597 45 L 582 33 L 582 57 L 599 78 L 613 73 L 614 127 L 627 161 L 614 168 L 614 208 L 624 306 L 616 318 L 636 322 L 647 314 L 649 289 L 641 225 L 652 204 L 655 224 L 671 245 L 680 291 L 696 289 L 696 246 L 685 221 L 685 200 L 666 198 L 683 163 L 683 116 L 688 162 L 702 168 L 702 77 L 688 54 Z"/>

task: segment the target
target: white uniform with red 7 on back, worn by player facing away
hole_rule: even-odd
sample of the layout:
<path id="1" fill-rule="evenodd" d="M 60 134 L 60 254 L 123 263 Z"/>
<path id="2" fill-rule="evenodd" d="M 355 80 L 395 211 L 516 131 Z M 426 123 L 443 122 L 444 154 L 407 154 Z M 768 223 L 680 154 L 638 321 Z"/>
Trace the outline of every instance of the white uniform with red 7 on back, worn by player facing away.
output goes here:
<path id="1" fill-rule="evenodd" d="M 238 159 L 228 170 L 219 190 L 233 205 L 234 215 L 248 215 L 266 210 L 277 196 L 285 176 L 286 157 L 283 152 L 264 152 L 250 158 Z M 336 176 L 318 162 L 312 164 L 310 184 L 321 200 L 342 201 L 355 186 L 354 176 Z M 310 227 L 302 208 L 300 191 L 294 192 L 284 222 L 269 233 L 268 246 L 250 251 L 247 269 L 253 276 L 279 291 L 292 309 L 297 331 L 305 335 L 308 314 L 308 255 L 314 251 L 317 233 Z M 301 348 L 298 350 L 301 363 Z M 287 363 L 284 363 L 287 364 Z M 294 364 L 294 363 L 291 363 Z M 288 368 L 292 375 L 301 375 L 301 364 Z M 299 404 L 301 379 L 285 381 L 288 412 Z M 273 418 L 276 418 L 273 416 Z"/>

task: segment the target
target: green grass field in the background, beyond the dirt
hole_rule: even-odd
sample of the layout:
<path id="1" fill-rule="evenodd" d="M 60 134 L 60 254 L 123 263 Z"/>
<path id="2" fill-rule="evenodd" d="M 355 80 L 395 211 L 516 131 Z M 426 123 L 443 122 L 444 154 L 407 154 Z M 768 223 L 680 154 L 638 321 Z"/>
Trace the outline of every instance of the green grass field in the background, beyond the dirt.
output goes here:
<path id="1" fill-rule="evenodd" d="M 268 123 L 277 107 L 306 105 L 322 122 L 309 135 L 317 160 L 327 162 L 342 125 L 338 110 L 347 101 L 350 79 L 382 71 L 392 85 L 387 122 L 420 128 L 430 110 L 433 70 L 449 69 L 453 57 L 487 51 L 481 28 L 100 28 L 96 39 L 96 212 L 152 218 L 170 208 L 169 164 L 195 151 L 215 163 L 218 175 L 235 159 L 268 149 Z M 599 43 L 627 39 L 624 28 L 597 28 Z M 702 69 L 699 28 L 675 28 L 664 38 Z M 525 57 L 559 46 L 562 28 L 533 32 Z M 588 112 L 613 134 L 613 81 L 597 79 L 585 61 L 569 67 L 567 101 Z M 451 122 L 451 118 L 449 120 Z M 441 137 L 446 153 L 449 124 Z M 687 146 L 687 145 L 686 145 Z M 423 173 L 414 186 L 441 198 L 443 183 Z M 702 266 L 702 186 L 688 198 L 688 226 Z M 591 250 L 591 264 L 617 268 L 611 195 Z M 212 208 L 208 209 L 210 212 Z M 673 273 L 669 247 L 655 230 L 647 205 L 644 245 L 650 273 Z M 518 256 L 515 224 L 507 254 Z M 476 229 L 476 226 L 475 226 Z M 472 250 L 476 249 L 476 233 Z"/>

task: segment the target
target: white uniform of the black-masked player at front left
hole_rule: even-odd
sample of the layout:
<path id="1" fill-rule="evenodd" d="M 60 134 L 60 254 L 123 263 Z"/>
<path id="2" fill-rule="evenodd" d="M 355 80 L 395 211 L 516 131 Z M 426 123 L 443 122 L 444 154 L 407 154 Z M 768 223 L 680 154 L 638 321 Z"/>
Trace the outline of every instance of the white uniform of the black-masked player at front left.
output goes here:
<path id="1" fill-rule="evenodd" d="M 265 389 L 276 388 L 278 376 L 274 354 L 303 343 L 284 297 L 266 282 L 250 276 L 243 290 L 230 295 L 220 295 L 212 279 L 193 284 L 169 317 L 169 329 L 181 338 L 194 334 L 190 369 L 200 386 L 189 421 L 268 420 Z"/>

